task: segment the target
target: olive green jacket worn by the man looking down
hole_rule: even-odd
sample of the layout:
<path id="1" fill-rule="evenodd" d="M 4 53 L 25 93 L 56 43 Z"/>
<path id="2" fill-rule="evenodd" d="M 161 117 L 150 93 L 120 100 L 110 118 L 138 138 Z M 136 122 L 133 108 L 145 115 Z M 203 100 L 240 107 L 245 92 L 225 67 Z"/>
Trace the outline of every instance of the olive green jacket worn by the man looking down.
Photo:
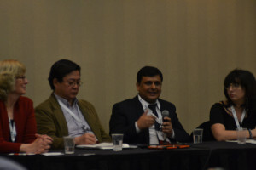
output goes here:
<path id="1" fill-rule="evenodd" d="M 96 135 L 98 142 L 111 141 L 110 137 L 105 133 L 102 127 L 94 106 L 89 102 L 80 99 L 78 105 L 84 119 L 88 122 L 92 132 Z M 67 122 L 54 94 L 51 94 L 49 99 L 45 100 L 35 108 L 35 115 L 38 133 L 47 134 L 54 140 L 51 148 L 64 148 L 63 137 L 68 136 Z"/>

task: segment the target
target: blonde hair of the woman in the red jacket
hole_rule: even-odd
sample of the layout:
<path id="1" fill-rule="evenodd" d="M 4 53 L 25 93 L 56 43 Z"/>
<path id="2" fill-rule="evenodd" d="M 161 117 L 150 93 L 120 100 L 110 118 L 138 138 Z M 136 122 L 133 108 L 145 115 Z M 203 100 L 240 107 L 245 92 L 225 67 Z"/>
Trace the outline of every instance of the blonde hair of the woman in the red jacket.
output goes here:
<path id="1" fill-rule="evenodd" d="M 15 88 L 15 80 L 25 74 L 26 67 L 20 61 L 7 59 L 0 61 L 0 99 L 5 101 Z"/>

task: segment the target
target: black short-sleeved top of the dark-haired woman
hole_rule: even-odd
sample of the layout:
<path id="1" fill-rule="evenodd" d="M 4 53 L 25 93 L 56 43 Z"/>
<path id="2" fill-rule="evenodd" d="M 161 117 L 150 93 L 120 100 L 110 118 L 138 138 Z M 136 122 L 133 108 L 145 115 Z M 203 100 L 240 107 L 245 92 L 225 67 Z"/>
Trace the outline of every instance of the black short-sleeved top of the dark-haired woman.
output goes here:
<path id="1" fill-rule="evenodd" d="M 210 112 L 210 124 L 221 123 L 226 130 L 236 130 L 236 122 L 224 102 L 212 105 Z M 254 129 L 256 125 L 255 114 L 247 114 L 241 123 L 241 127 Z"/>

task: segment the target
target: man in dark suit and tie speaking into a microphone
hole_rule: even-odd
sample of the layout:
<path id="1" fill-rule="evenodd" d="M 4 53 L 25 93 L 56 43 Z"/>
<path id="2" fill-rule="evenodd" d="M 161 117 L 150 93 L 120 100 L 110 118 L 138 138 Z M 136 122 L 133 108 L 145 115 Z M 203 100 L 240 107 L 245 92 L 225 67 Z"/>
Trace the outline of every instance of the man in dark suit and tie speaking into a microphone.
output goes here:
<path id="1" fill-rule="evenodd" d="M 138 94 L 113 105 L 109 133 L 123 133 L 128 144 L 188 142 L 189 134 L 178 121 L 175 105 L 159 99 L 162 82 L 162 73 L 155 67 L 145 66 L 138 71 Z M 163 111 L 169 113 L 164 119 Z"/>

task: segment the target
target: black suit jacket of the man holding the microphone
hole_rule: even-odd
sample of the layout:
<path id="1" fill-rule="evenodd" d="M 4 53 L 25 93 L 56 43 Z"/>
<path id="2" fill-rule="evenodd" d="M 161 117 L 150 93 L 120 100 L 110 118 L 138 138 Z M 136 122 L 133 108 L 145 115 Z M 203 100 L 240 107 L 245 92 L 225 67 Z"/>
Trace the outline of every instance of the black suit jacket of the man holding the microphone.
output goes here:
<path id="1" fill-rule="evenodd" d="M 178 142 L 189 142 L 189 134 L 186 133 L 182 124 L 178 121 L 175 105 L 162 99 L 159 99 L 159 102 L 161 111 L 169 111 L 175 140 Z M 135 122 L 143 113 L 143 106 L 137 96 L 113 105 L 109 122 L 109 133 L 124 133 L 123 141 L 127 144 L 149 144 L 149 130 L 145 129 L 137 134 L 135 127 Z M 173 142 L 173 139 L 171 140 Z"/>

